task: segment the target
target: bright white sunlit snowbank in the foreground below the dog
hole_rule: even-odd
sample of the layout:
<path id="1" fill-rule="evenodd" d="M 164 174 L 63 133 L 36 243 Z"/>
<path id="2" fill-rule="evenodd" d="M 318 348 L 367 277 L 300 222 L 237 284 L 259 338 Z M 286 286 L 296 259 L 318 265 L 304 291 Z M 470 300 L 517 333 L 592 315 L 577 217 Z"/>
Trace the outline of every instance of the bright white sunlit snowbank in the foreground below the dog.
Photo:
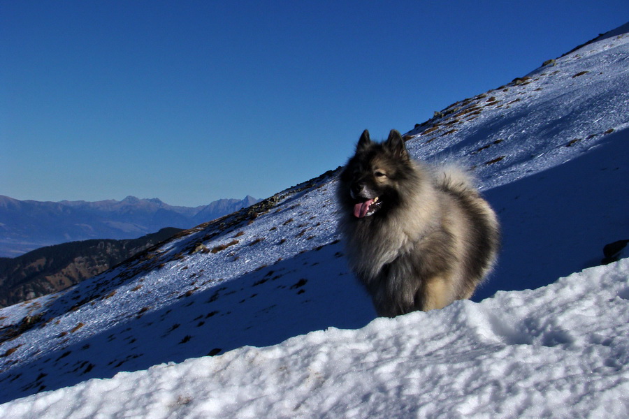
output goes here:
<path id="1" fill-rule="evenodd" d="M 629 259 L 533 291 L 92 379 L 3 418 L 626 418 Z"/>

